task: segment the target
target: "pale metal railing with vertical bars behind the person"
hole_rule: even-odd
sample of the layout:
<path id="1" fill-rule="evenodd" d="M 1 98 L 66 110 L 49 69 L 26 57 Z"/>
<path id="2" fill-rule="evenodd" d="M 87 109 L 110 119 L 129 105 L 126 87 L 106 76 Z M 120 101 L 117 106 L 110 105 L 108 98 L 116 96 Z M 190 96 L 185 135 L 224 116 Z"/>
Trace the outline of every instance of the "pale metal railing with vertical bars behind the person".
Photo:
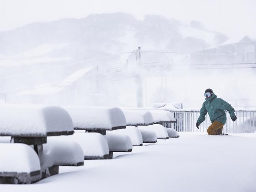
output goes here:
<path id="1" fill-rule="evenodd" d="M 196 121 L 200 116 L 199 110 L 171 110 L 176 119 L 176 123 L 164 123 L 164 127 L 174 128 L 177 131 L 206 132 L 211 125 L 211 120 L 206 115 L 206 120 L 200 124 L 200 129 L 196 128 Z M 226 111 L 227 121 L 223 126 L 225 133 L 254 133 L 256 131 L 256 110 L 242 109 L 235 110 L 236 121 L 232 121 Z"/>

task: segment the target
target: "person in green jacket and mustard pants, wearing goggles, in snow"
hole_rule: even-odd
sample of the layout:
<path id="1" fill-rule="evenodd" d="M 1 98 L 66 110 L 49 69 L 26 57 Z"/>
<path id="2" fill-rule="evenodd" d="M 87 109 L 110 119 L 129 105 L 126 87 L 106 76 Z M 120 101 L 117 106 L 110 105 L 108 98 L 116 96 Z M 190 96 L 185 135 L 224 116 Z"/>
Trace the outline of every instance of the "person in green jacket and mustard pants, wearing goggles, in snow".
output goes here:
<path id="1" fill-rule="evenodd" d="M 235 116 L 234 108 L 223 99 L 217 98 L 217 95 L 213 93 L 212 89 L 206 89 L 204 96 L 206 101 L 203 103 L 200 109 L 200 116 L 196 121 L 196 127 L 199 129 L 199 125 L 206 119 L 206 114 L 208 112 L 211 125 L 207 129 L 209 135 L 227 135 L 222 133 L 223 125 L 226 123 L 227 117 L 225 110 L 230 114 L 232 121 L 235 121 L 237 117 Z"/>

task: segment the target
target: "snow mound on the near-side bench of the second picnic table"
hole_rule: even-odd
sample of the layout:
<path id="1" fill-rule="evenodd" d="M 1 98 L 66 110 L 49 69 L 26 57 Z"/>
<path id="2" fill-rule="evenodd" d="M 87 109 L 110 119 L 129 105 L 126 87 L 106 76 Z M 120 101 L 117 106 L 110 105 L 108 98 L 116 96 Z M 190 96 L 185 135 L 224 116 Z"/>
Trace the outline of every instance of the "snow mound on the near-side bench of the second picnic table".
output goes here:
<path id="1" fill-rule="evenodd" d="M 60 136 L 60 138 L 77 142 L 82 148 L 84 157 L 103 157 L 109 154 L 108 142 L 100 133 L 77 132 L 75 130 L 73 135 Z"/>

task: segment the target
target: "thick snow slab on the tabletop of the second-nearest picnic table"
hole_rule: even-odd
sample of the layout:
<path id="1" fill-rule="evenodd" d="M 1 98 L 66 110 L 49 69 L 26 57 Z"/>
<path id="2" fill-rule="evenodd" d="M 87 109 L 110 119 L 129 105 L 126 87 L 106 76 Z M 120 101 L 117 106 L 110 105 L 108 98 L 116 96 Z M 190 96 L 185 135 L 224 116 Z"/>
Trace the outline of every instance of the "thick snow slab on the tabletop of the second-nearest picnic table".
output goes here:
<path id="1" fill-rule="evenodd" d="M 125 116 L 120 108 L 113 107 L 64 107 L 70 114 L 76 129 L 123 129 Z"/>

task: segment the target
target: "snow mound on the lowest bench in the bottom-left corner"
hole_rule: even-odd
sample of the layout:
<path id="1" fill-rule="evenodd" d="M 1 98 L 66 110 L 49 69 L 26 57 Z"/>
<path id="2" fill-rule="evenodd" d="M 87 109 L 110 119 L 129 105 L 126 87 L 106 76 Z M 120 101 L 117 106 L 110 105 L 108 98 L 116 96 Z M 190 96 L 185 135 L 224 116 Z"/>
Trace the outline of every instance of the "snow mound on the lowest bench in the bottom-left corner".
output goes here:
<path id="1" fill-rule="evenodd" d="M 29 145 L 1 143 L 0 151 L 0 173 L 31 173 L 32 171 L 40 171 L 39 158 L 34 149 Z"/>

